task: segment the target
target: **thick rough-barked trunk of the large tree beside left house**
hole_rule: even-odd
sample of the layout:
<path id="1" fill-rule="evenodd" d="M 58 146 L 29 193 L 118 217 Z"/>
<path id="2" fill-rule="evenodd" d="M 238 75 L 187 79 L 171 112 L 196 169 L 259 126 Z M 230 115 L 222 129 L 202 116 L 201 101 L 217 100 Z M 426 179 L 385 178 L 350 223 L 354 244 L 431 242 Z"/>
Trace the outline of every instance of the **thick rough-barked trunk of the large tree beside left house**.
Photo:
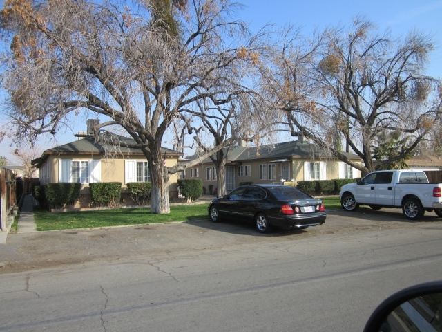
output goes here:
<path id="1" fill-rule="evenodd" d="M 171 212 L 169 206 L 169 176 L 164 176 L 164 167 L 160 163 L 151 163 L 149 165 L 151 172 L 151 213 L 162 214 Z"/>

